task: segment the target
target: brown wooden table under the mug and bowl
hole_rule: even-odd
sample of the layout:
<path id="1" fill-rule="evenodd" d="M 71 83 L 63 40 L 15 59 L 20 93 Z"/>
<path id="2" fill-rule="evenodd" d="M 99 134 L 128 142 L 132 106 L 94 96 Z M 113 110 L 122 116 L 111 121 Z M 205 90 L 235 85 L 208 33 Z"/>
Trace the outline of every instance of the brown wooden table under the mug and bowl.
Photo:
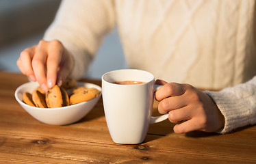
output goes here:
<path id="1" fill-rule="evenodd" d="M 178 135 L 166 120 L 149 127 L 144 143 L 120 145 L 107 130 L 102 100 L 75 124 L 42 124 L 14 98 L 25 82 L 22 74 L 0 72 L 0 163 L 256 163 L 256 126 Z"/>

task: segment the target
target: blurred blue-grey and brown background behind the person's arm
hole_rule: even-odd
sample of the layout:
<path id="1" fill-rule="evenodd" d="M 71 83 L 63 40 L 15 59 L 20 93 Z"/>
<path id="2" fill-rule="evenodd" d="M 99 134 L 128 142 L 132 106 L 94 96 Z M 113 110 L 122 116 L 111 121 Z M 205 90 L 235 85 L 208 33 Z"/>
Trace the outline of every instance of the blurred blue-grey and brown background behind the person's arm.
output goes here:
<path id="1" fill-rule="evenodd" d="M 0 1 L 0 70 L 20 72 L 16 66 L 21 51 L 38 44 L 53 21 L 60 0 Z M 110 70 L 127 68 L 116 29 L 103 41 L 97 57 L 84 77 L 100 79 Z"/>

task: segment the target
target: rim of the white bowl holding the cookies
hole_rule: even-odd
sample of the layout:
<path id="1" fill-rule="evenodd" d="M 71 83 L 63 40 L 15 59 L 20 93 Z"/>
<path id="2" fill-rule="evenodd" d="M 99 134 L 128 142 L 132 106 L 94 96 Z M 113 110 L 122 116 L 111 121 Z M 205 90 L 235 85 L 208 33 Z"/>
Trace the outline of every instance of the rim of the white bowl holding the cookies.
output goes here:
<path id="1" fill-rule="evenodd" d="M 87 82 L 81 82 L 81 81 L 77 81 L 77 85 L 78 86 L 83 86 L 83 85 L 94 85 L 95 88 L 97 88 L 97 90 L 99 90 L 101 93 L 99 94 L 99 96 L 95 97 L 95 98 L 92 98 L 90 100 L 87 100 L 87 101 L 84 101 L 84 102 L 80 102 L 78 104 L 75 104 L 75 105 L 68 105 L 66 107 L 57 107 L 57 108 L 40 108 L 40 107 L 32 107 L 30 105 L 27 105 L 25 102 L 23 102 L 23 100 L 21 100 L 20 98 L 18 98 L 18 93 L 20 92 L 21 88 L 23 88 L 25 85 L 29 85 L 29 84 L 35 84 L 35 85 L 38 85 L 39 84 L 37 82 L 34 82 L 34 81 L 30 81 L 30 82 L 27 82 L 27 83 L 23 83 L 22 85 L 18 86 L 14 92 L 14 96 L 16 98 L 16 100 L 21 104 L 21 105 L 25 105 L 25 107 L 29 107 L 31 109 L 37 109 L 37 110 L 47 110 L 47 111 L 51 111 L 51 110 L 62 110 L 62 109 L 67 109 L 67 108 L 71 108 L 71 107 L 76 107 L 76 106 L 79 106 L 79 105 L 83 105 L 83 104 L 86 104 L 88 102 L 91 102 L 99 97 L 101 97 L 101 94 L 102 94 L 102 88 L 97 85 L 97 84 L 94 84 L 94 83 L 87 83 Z M 36 84 L 37 83 L 37 84 Z M 23 94 L 23 93 L 22 93 Z"/>

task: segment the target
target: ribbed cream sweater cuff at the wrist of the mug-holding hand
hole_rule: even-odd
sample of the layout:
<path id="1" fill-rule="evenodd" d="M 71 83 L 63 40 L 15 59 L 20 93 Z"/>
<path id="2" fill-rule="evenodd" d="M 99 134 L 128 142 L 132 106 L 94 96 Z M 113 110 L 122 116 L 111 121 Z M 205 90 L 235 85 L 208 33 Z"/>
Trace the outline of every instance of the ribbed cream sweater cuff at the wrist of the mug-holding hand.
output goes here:
<path id="1" fill-rule="evenodd" d="M 240 102 L 239 98 L 235 95 L 225 92 L 224 90 L 220 92 L 205 91 L 205 94 L 212 97 L 218 109 L 220 109 L 220 112 L 225 117 L 225 126 L 219 131 L 216 131 L 216 133 L 230 133 L 235 128 L 250 124 L 248 119 L 250 110 L 245 109 L 246 105 Z"/>

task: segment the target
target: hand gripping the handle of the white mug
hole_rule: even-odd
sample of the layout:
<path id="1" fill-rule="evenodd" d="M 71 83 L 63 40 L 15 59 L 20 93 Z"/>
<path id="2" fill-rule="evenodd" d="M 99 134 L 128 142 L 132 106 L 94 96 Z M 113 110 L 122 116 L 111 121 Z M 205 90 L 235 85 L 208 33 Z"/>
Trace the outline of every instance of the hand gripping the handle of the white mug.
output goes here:
<path id="1" fill-rule="evenodd" d="M 188 84 L 162 80 L 156 83 L 164 85 L 155 92 L 155 98 L 160 101 L 158 111 L 169 112 L 170 122 L 177 123 L 173 128 L 175 133 L 214 132 L 224 126 L 225 118 L 214 100 L 201 90 Z"/>

